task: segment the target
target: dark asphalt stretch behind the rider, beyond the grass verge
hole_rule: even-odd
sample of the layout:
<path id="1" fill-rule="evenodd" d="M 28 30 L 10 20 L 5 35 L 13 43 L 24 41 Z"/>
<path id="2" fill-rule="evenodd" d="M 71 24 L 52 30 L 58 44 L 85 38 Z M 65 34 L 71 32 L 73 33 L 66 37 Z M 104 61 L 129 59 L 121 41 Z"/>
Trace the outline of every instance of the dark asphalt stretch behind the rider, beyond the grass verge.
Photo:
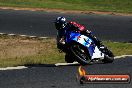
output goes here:
<path id="1" fill-rule="evenodd" d="M 0 32 L 55 37 L 53 21 L 58 16 L 83 24 L 101 40 L 132 41 L 131 16 L 0 10 Z"/>

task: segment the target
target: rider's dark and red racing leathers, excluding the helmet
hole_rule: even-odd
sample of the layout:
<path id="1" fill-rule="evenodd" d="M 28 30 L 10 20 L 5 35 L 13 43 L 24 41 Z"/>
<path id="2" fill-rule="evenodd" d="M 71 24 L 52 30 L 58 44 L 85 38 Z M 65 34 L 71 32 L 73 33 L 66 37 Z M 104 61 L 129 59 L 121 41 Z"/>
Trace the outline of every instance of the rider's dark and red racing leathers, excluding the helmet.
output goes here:
<path id="1" fill-rule="evenodd" d="M 58 27 L 57 25 L 55 25 L 55 26 L 57 29 L 57 48 L 64 52 L 66 50 L 65 40 L 64 40 L 65 29 L 77 31 L 80 34 L 86 35 L 86 36 L 90 37 L 95 42 L 95 44 L 97 46 L 100 46 L 100 41 L 95 36 L 93 36 L 89 30 L 85 30 L 84 26 L 77 24 L 76 22 L 67 22 L 63 25 L 62 28 Z"/>

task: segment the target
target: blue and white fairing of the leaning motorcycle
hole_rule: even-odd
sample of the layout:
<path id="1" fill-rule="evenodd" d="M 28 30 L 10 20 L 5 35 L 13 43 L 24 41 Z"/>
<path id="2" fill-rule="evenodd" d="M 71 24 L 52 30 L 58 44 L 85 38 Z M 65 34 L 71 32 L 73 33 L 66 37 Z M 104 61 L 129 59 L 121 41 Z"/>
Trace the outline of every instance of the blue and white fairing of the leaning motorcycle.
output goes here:
<path id="1" fill-rule="evenodd" d="M 87 47 L 91 59 L 104 58 L 104 54 L 98 49 L 98 47 L 94 44 L 94 41 L 90 39 L 88 36 L 81 35 L 75 32 L 70 32 L 70 35 L 67 37 L 68 38 L 66 38 L 66 42 L 76 41 Z"/>

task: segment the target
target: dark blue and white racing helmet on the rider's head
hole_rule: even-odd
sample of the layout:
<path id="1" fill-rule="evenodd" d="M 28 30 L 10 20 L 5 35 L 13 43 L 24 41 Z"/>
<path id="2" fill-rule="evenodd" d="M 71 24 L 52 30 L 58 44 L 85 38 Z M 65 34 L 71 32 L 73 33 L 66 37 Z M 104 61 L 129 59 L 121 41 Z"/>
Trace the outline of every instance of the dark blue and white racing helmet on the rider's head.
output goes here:
<path id="1" fill-rule="evenodd" d="M 63 29 L 66 25 L 65 17 L 57 17 L 55 20 L 55 26 L 57 30 Z"/>

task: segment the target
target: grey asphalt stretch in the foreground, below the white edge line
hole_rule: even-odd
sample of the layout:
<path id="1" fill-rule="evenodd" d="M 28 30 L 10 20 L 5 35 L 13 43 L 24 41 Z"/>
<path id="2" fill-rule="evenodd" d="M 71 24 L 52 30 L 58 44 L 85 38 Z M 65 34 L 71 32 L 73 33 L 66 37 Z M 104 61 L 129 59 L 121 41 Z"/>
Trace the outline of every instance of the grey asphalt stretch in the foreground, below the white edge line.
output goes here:
<path id="1" fill-rule="evenodd" d="M 0 71 L 0 88 L 131 88 L 130 84 L 84 84 L 76 81 L 79 66 L 34 65 L 22 70 Z M 85 66 L 87 74 L 130 74 L 132 58 L 115 60 L 112 64 Z"/>

